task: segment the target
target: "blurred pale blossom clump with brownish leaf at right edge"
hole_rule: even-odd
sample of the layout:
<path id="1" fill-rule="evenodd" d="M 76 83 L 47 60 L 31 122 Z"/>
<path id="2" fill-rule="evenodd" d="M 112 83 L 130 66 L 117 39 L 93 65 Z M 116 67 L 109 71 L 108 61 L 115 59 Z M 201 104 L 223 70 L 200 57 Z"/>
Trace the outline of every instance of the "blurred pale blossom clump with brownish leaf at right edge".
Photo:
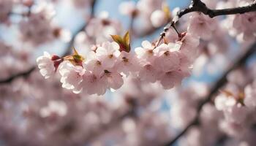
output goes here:
<path id="1" fill-rule="evenodd" d="M 219 126 L 231 137 L 241 137 L 241 133 L 248 132 L 256 121 L 253 116 L 256 102 L 255 75 L 252 73 L 244 77 L 244 72 L 249 69 L 238 69 L 228 74 L 228 84 L 214 101 L 217 110 L 225 117 Z M 249 83 L 249 79 L 253 82 Z"/>

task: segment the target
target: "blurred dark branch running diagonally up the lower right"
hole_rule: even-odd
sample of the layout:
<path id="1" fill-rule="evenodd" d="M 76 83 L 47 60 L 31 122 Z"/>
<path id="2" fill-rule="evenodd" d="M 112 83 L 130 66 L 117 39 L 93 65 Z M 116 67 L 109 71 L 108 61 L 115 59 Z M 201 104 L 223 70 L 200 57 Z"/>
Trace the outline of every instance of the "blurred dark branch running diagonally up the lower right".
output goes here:
<path id="1" fill-rule="evenodd" d="M 233 71 L 234 69 L 238 68 L 238 66 L 243 66 L 244 64 L 246 64 L 247 59 L 256 52 L 256 43 L 254 45 L 252 45 L 252 47 L 250 47 L 246 53 L 244 53 L 244 55 L 241 56 L 241 58 L 239 58 L 234 64 L 233 66 L 230 66 L 229 69 L 227 69 L 227 71 L 222 74 L 222 77 L 219 78 L 219 80 L 217 80 L 217 83 L 211 88 L 210 93 L 208 94 L 208 96 L 206 97 L 206 99 L 204 99 L 203 101 L 200 102 L 199 106 L 197 107 L 197 115 L 194 118 L 194 120 L 192 120 L 191 123 L 189 123 L 187 125 L 186 128 L 184 128 L 183 131 L 181 131 L 180 134 L 178 134 L 174 139 L 172 139 L 170 142 L 167 142 L 165 145 L 170 146 L 173 145 L 180 137 L 182 137 L 184 134 L 186 134 L 186 132 L 189 130 L 189 128 L 191 128 L 192 126 L 197 125 L 200 121 L 200 112 L 203 108 L 203 106 L 208 103 L 209 101 L 211 101 L 212 97 L 219 91 L 219 88 L 222 88 L 223 85 L 226 84 L 227 82 L 227 74 L 229 74 L 231 71 Z"/>

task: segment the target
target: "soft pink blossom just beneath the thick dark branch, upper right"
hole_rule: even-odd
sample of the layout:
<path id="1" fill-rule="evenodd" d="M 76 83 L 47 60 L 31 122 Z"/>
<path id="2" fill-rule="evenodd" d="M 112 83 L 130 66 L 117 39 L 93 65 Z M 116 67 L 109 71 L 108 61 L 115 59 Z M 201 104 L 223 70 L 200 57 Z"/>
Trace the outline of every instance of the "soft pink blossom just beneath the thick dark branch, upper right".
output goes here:
<path id="1" fill-rule="evenodd" d="M 201 39 L 211 39 L 217 25 L 216 20 L 209 18 L 208 15 L 203 15 L 203 13 L 198 12 L 194 12 L 189 19 L 187 31 L 190 34 L 195 34 Z"/>

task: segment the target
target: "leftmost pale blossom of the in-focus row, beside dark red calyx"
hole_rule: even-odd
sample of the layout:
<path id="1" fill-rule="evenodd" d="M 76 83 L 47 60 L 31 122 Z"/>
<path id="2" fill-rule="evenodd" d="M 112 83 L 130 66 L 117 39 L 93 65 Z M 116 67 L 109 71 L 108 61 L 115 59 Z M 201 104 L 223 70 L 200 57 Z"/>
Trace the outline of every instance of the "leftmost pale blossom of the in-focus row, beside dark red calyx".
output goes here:
<path id="1" fill-rule="evenodd" d="M 44 55 L 37 58 L 39 72 L 42 74 L 43 77 L 45 77 L 45 79 L 48 79 L 55 73 L 54 64 L 51 58 L 52 57 L 47 52 L 44 52 Z"/>

